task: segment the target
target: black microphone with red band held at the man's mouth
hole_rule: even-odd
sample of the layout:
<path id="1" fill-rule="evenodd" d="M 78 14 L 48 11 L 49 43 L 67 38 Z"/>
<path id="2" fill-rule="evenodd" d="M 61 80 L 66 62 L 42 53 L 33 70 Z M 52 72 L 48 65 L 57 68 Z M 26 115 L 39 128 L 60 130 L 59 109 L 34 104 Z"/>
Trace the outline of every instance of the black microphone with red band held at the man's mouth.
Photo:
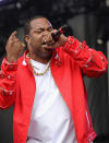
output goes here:
<path id="1" fill-rule="evenodd" d="M 53 38 L 55 40 L 57 40 L 57 39 L 59 38 L 59 36 L 65 32 L 66 28 L 68 28 L 68 25 L 61 26 L 61 27 L 57 31 L 57 33 L 52 33 L 52 34 L 51 34 L 52 38 Z"/>

